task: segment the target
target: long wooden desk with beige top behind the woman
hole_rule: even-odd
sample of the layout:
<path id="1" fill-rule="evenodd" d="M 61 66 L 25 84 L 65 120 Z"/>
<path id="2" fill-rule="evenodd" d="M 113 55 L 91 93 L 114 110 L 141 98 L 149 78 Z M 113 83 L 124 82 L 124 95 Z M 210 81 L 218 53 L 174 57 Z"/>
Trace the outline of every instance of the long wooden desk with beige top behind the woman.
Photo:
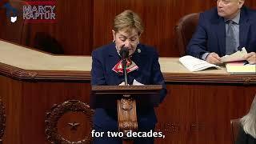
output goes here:
<path id="1" fill-rule="evenodd" d="M 225 68 L 191 73 L 178 58 L 159 62 L 169 93 L 157 108 L 156 130 L 165 138 L 156 143 L 230 144 L 230 119 L 250 109 L 256 74 L 232 75 Z M 0 41 L 3 142 L 90 141 L 92 113 L 84 105 L 90 69 L 90 56 L 51 55 Z"/>

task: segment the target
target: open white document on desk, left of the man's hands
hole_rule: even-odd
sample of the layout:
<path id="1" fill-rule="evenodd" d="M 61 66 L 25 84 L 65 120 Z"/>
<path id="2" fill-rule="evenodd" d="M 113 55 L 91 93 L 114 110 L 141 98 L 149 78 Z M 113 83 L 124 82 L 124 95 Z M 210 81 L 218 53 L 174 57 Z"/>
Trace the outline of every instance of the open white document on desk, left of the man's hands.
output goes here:
<path id="1" fill-rule="evenodd" d="M 211 64 L 209 62 L 206 62 L 199 58 L 194 58 L 190 55 L 183 56 L 182 58 L 179 58 L 179 62 L 182 63 L 183 66 L 186 67 L 186 69 L 190 71 L 200 71 L 200 70 L 206 70 L 210 67 L 214 67 L 216 69 L 221 69 L 220 66 Z"/>

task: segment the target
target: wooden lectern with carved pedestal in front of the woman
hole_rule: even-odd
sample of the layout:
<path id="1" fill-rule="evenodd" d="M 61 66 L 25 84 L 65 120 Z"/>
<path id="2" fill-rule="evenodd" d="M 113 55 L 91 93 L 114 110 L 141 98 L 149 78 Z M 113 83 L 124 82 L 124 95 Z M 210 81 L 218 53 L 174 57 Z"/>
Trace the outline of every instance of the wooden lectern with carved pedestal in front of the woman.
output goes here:
<path id="1" fill-rule="evenodd" d="M 91 106 L 108 108 L 110 103 L 117 102 L 118 130 L 124 134 L 123 143 L 133 143 L 126 133 L 138 130 L 136 103 L 139 106 L 158 106 L 160 90 L 162 85 L 92 86 Z"/>

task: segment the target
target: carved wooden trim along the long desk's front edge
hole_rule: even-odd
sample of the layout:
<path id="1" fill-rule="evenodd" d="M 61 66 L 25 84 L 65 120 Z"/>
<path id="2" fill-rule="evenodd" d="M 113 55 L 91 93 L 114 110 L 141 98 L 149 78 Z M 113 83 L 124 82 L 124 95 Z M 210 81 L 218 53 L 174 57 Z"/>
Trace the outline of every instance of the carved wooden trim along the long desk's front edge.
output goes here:
<path id="1" fill-rule="evenodd" d="M 0 63 L 0 75 L 25 81 L 90 81 L 90 71 L 23 70 L 4 63 Z M 256 84 L 256 74 L 163 73 L 163 76 L 166 82 Z"/>

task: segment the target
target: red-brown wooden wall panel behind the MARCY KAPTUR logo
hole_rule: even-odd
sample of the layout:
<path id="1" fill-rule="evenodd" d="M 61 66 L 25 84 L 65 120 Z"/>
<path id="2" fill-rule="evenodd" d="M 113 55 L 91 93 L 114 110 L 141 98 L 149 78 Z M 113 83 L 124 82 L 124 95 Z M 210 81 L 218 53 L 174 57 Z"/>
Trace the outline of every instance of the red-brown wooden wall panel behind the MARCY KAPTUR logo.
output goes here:
<path id="1" fill-rule="evenodd" d="M 93 1 L 89 0 L 56 0 L 57 22 L 26 23 L 28 30 L 24 32 L 26 34 L 23 41 L 19 41 L 17 34 L 11 33 L 14 26 L 9 26 L 10 22 L 6 22 L 6 10 L 0 9 L 0 17 L 5 20 L 0 25 L 0 36 L 11 42 L 56 54 L 90 54 L 93 42 L 92 5 Z M 19 18 L 22 19 L 22 14 Z M 13 25 L 17 25 L 16 22 Z"/>

